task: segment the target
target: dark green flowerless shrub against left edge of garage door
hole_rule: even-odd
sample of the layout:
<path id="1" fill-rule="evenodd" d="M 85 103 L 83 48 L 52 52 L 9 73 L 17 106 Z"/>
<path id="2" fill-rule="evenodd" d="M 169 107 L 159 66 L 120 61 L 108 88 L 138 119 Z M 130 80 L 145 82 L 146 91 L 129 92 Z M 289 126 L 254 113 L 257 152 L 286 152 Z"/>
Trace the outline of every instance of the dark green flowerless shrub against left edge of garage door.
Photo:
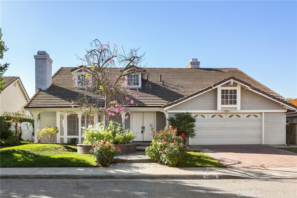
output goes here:
<path id="1" fill-rule="evenodd" d="M 186 113 L 178 113 L 174 115 L 175 117 L 170 117 L 167 120 L 173 127 L 176 127 L 178 132 L 177 135 L 185 134 L 184 144 L 188 142 L 189 138 L 194 138 L 195 133 L 195 122 L 196 119 L 189 112 Z"/>

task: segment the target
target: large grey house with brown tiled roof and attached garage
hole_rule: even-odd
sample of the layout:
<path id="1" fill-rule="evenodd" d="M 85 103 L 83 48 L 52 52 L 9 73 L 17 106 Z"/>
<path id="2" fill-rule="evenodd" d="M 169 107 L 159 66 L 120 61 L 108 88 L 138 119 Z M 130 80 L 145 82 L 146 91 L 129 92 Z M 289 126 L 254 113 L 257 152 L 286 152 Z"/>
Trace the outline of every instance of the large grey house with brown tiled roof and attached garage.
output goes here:
<path id="1" fill-rule="evenodd" d="M 95 111 L 84 116 L 71 109 L 80 90 L 72 78 L 81 68 L 61 67 L 51 76 L 49 55 L 38 51 L 34 59 L 37 91 L 25 108 L 34 114 L 35 122 L 41 113 L 41 127 L 59 128 L 56 142 L 67 143 L 74 137 L 82 141 L 81 126 L 96 124 L 104 115 Z M 285 144 L 285 113 L 295 111 L 295 105 L 237 68 L 199 65 L 191 59 L 185 68 L 145 68 L 145 74 L 127 78 L 139 89 L 138 106 L 130 108 L 129 119 L 123 119 L 125 128 L 137 132 L 134 141 L 151 141 L 150 124 L 157 131 L 168 125 L 168 117 L 189 111 L 197 119 L 191 145 Z M 114 75 L 120 71 L 115 68 Z M 110 119 L 122 122 L 121 118 Z"/>

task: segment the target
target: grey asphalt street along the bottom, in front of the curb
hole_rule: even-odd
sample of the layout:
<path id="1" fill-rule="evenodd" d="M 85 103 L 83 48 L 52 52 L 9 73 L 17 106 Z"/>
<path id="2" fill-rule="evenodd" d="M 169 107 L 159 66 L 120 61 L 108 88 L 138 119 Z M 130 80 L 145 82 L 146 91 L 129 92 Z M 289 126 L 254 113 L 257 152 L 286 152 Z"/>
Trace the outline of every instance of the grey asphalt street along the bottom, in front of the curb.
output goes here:
<path id="1" fill-rule="evenodd" d="M 1 180 L 1 198 L 295 198 L 296 180 Z"/>

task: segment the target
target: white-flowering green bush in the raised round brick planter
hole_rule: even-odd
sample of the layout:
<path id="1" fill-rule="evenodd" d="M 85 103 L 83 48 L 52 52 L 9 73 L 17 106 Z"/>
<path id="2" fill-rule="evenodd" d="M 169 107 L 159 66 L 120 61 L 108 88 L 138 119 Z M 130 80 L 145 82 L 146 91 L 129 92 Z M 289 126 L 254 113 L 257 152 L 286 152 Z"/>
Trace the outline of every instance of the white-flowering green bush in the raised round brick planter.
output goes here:
<path id="1" fill-rule="evenodd" d="M 84 144 L 95 145 L 101 140 L 107 140 L 113 144 L 128 144 L 136 137 L 136 134 L 130 129 L 123 130 L 121 124 L 110 121 L 108 128 L 104 128 L 104 122 L 83 128 L 83 137 Z"/>

